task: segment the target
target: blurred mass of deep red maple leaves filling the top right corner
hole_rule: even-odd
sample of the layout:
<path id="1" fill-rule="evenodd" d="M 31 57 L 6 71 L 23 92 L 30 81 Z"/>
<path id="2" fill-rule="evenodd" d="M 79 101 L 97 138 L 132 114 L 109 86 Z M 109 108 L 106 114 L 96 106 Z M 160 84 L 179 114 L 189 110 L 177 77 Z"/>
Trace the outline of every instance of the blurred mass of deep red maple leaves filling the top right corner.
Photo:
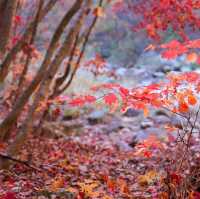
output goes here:
<path id="1" fill-rule="evenodd" d="M 142 17 L 134 30 L 145 29 L 147 34 L 156 40 L 162 38 L 162 33 L 172 28 L 183 40 L 188 40 L 186 27 L 199 30 L 199 16 L 196 11 L 200 8 L 198 0 L 118 0 L 113 5 L 114 12 L 124 11 L 136 13 Z"/>

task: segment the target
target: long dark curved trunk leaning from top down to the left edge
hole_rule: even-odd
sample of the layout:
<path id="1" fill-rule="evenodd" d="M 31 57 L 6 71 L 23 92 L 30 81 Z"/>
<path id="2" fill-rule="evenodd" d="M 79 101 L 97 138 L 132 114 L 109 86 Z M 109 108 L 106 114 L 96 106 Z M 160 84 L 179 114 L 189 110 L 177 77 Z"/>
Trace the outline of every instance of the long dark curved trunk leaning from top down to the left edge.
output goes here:
<path id="1" fill-rule="evenodd" d="M 33 79 L 31 84 L 27 87 L 27 89 L 22 93 L 22 95 L 17 99 L 15 105 L 12 108 L 12 111 L 8 114 L 8 116 L 3 120 L 3 122 L 0 125 L 0 140 L 5 140 L 6 134 L 9 132 L 12 125 L 17 121 L 17 118 L 19 117 L 20 113 L 23 110 L 23 107 L 28 102 L 29 97 L 33 94 L 35 89 L 40 84 L 41 80 L 44 78 L 47 69 L 49 67 L 49 64 L 51 63 L 51 58 L 56 51 L 57 43 L 65 29 L 65 27 L 68 25 L 72 17 L 77 13 L 77 11 L 80 9 L 80 6 L 82 4 L 83 0 L 77 0 L 72 8 L 67 12 L 67 14 L 63 17 L 61 23 L 59 24 L 58 28 L 56 29 L 54 36 L 51 40 L 51 43 L 49 45 L 49 48 L 47 50 L 46 56 L 44 58 L 44 61 L 36 74 L 36 77 Z"/>

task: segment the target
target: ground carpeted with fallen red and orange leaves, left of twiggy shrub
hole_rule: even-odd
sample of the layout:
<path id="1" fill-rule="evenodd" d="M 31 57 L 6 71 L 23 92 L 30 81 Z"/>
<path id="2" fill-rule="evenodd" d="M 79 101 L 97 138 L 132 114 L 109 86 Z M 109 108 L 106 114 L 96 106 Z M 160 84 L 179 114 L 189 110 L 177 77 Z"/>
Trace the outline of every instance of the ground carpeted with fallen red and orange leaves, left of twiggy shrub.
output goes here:
<path id="1" fill-rule="evenodd" d="M 66 136 L 30 135 L 18 156 L 28 166 L 17 163 L 1 171 L 0 198 L 167 198 L 164 154 L 156 150 L 140 156 L 134 140 L 124 146 L 122 133 L 115 132 L 118 143 L 100 126 Z M 172 155 L 170 144 L 164 146 Z"/>

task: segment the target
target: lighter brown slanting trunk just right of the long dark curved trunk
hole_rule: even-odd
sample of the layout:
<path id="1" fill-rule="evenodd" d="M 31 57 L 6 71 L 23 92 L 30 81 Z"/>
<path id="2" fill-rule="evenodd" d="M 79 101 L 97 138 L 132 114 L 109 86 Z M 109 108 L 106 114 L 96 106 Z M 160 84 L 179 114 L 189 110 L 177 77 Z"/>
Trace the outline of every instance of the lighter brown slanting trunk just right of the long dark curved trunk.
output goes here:
<path id="1" fill-rule="evenodd" d="M 48 69 L 48 72 L 47 72 L 48 75 L 46 76 L 46 78 L 44 78 L 42 80 L 40 87 L 36 93 L 33 105 L 31 106 L 29 113 L 27 115 L 27 118 L 22 125 L 22 129 L 21 129 L 20 133 L 18 133 L 14 142 L 10 145 L 10 147 L 8 149 L 9 155 L 13 156 L 13 155 L 16 155 L 16 153 L 18 153 L 19 149 L 24 144 L 24 141 L 27 137 L 28 132 L 30 132 L 30 128 L 32 128 L 32 120 L 34 118 L 34 113 L 38 107 L 39 102 L 49 98 L 50 84 L 51 84 L 53 77 L 55 76 L 57 70 L 59 69 L 59 66 L 61 65 L 61 63 L 63 62 L 65 57 L 68 56 L 72 50 L 72 46 L 76 39 L 76 35 L 79 34 L 80 29 L 83 25 L 83 22 L 87 16 L 86 10 L 88 9 L 88 7 L 91 4 L 91 0 L 88 0 L 88 4 L 89 5 L 87 5 L 86 9 L 84 9 L 82 11 L 82 14 L 77 19 L 77 22 L 74 25 L 74 27 L 71 29 L 69 34 L 66 36 L 62 47 L 58 51 L 57 55 L 55 56 L 54 60 L 52 61 L 51 65 Z M 1 166 L 3 168 L 5 168 L 8 165 L 9 165 L 8 162 L 4 161 L 4 163 L 2 163 Z"/>

